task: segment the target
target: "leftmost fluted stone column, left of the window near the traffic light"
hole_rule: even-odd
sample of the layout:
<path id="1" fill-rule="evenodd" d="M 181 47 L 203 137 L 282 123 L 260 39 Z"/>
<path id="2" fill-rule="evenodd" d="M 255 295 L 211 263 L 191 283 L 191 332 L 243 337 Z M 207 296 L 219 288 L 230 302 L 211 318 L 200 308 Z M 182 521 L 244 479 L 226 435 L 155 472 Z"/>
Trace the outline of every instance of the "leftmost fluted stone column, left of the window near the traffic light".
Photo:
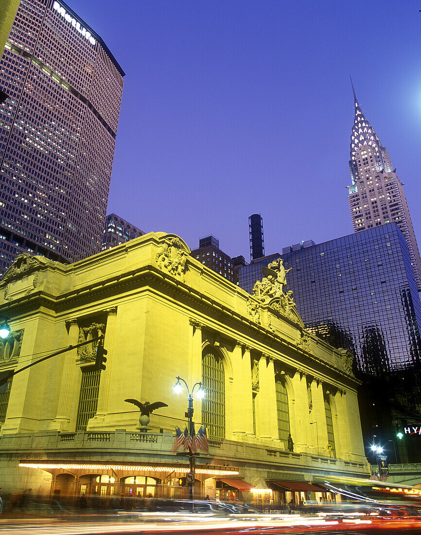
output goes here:
<path id="1" fill-rule="evenodd" d="M 68 331 L 68 343 L 70 346 L 77 345 L 79 340 L 78 320 L 70 320 Z M 76 371 L 76 358 L 78 350 L 72 349 L 64 354 L 64 366 L 62 383 L 60 386 L 60 395 L 58 398 L 57 416 L 51 424 L 52 430 L 71 431 L 70 428 L 70 411 L 72 408 L 72 393 L 74 387 L 74 375 Z"/>

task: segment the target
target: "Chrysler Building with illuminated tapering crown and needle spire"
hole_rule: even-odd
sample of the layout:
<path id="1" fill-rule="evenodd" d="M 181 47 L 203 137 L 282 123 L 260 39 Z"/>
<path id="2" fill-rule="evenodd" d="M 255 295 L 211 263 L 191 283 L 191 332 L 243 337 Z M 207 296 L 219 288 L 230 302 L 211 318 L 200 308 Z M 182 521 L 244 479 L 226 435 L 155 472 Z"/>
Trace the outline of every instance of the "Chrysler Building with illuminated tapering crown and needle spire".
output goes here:
<path id="1" fill-rule="evenodd" d="M 348 200 L 354 232 L 396 223 L 407 240 L 418 292 L 421 292 L 421 258 L 402 182 L 392 167 L 389 153 L 361 111 L 354 86 L 353 93 L 355 119 L 349 161 L 352 184 L 348 186 Z"/>

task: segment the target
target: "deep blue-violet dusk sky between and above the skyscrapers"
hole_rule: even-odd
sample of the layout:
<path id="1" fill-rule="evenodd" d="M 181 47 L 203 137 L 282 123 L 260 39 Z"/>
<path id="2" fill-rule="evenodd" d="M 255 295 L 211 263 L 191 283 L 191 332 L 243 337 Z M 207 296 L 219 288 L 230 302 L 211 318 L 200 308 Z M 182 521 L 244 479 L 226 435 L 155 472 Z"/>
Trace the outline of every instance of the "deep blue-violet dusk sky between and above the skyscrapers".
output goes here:
<path id="1" fill-rule="evenodd" d="M 126 72 L 108 212 L 249 260 L 352 232 L 357 98 L 421 246 L 421 2 L 67 0 Z"/>

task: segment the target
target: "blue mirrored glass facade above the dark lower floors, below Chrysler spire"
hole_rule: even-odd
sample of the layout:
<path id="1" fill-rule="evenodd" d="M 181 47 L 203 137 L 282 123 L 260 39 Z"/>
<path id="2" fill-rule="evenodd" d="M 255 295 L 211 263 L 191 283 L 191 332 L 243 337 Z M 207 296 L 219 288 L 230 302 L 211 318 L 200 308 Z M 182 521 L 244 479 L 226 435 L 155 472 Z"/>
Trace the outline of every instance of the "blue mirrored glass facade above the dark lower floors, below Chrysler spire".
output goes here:
<path id="1" fill-rule="evenodd" d="M 420 363 L 421 303 L 407 242 L 395 223 L 241 266 L 240 287 L 252 293 L 262 267 L 279 256 L 292 268 L 284 291 L 294 292 L 304 324 L 353 350 L 359 370 L 378 375 Z"/>

